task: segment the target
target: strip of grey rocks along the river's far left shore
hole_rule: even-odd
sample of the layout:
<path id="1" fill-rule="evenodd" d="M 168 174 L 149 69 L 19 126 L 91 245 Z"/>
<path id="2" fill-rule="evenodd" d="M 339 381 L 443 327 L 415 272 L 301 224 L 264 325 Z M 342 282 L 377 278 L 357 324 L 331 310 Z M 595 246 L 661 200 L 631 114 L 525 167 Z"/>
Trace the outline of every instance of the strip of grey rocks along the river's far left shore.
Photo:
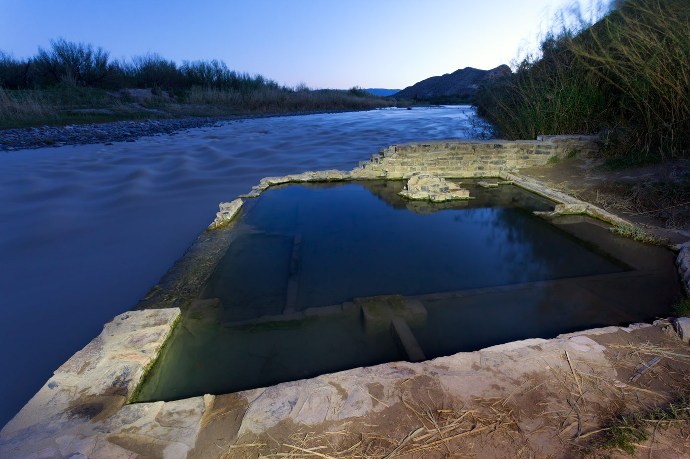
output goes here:
<path id="1" fill-rule="evenodd" d="M 245 119 L 273 118 L 275 116 L 299 116 L 306 114 L 358 112 L 362 110 L 315 110 L 311 112 L 286 112 L 235 116 L 185 116 L 170 119 L 147 119 L 145 121 L 115 121 L 84 125 L 43 126 L 41 128 L 17 128 L 0 130 L 0 151 L 11 152 L 64 145 L 87 145 L 89 143 L 133 142 L 144 136 L 175 135 L 192 128 L 218 128 L 221 125 Z"/>

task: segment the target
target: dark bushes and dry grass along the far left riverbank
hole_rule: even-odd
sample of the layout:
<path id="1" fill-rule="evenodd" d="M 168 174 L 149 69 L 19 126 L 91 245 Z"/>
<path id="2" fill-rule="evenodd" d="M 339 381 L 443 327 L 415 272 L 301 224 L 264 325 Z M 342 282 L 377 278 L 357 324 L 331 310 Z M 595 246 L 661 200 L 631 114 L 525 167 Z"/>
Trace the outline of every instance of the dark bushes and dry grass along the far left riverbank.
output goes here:
<path id="1" fill-rule="evenodd" d="M 110 60 L 102 48 L 64 39 L 29 59 L 0 51 L 0 128 L 393 105 L 394 99 L 357 87 L 289 88 L 218 60 L 177 65 L 159 54 Z"/>

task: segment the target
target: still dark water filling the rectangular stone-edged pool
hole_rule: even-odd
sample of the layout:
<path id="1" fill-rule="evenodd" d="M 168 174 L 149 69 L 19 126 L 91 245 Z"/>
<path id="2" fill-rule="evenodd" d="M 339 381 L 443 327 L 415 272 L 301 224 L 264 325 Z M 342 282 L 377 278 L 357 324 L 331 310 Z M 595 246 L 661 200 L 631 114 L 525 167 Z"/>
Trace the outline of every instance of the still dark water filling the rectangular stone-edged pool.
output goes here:
<path id="1" fill-rule="evenodd" d="M 402 185 L 283 185 L 252 201 L 206 289 L 210 299 L 186 313 L 141 400 L 404 360 L 390 319 L 369 326 L 389 306 L 433 358 L 651 318 L 679 292 L 670 252 L 607 247 L 619 240 L 587 221 L 553 225 L 531 213 L 551 203 L 518 187 L 469 183 L 475 199 L 434 204 L 403 200 Z M 640 294 L 642 278 L 666 293 Z M 610 285 L 633 298 L 607 298 Z M 362 300 L 351 303 L 381 295 L 408 300 L 377 299 L 370 316 Z"/>

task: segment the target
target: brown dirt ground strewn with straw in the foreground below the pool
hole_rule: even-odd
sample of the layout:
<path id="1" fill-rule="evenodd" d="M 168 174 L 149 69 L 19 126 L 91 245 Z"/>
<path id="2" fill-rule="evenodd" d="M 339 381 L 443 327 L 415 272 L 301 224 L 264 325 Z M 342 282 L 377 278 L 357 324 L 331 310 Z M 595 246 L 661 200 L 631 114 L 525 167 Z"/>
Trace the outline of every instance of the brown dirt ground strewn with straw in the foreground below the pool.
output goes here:
<path id="1" fill-rule="evenodd" d="M 282 421 L 263 433 L 239 438 L 247 402 L 219 396 L 202 422 L 190 457 L 690 457 L 689 405 L 682 405 L 680 416 L 676 411 L 647 416 L 690 390 L 687 343 L 664 324 L 589 338 L 605 347 L 605 358 L 589 358 L 571 349 L 560 355 L 560 365 L 543 360 L 543 365 L 526 369 L 509 384 L 477 371 L 476 378 L 486 387 L 482 397 L 458 395 L 464 387 L 451 395 L 434 374 L 421 375 L 401 383 L 405 389 L 397 402 L 385 399 L 383 387 L 368 384 L 370 396 L 384 405 L 368 416 L 318 425 Z M 629 379 L 655 357 L 660 360 L 649 371 Z M 645 429 L 647 439 L 633 437 L 624 447 L 607 446 L 615 422 L 634 413 L 642 420 L 649 418 L 645 427 L 622 430 Z M 635 449 L 632 454 L 622 449 L 630 446 Z"/>

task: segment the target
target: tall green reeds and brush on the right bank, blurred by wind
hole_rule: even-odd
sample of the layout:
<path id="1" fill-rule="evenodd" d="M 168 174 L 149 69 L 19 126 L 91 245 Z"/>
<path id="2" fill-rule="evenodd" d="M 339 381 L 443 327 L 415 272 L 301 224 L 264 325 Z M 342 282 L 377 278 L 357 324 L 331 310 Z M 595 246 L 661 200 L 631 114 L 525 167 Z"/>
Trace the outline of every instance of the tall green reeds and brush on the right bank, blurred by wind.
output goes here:
<path id="1" fill-rule="evenodd" d="M 689 22 L 687 0 L 617 1 L 596 23 L 552 32 L 538 56 L 480 88 L 477 112 L 506 139 L 602 133 L 612 167 L 687 156 Z"/>

